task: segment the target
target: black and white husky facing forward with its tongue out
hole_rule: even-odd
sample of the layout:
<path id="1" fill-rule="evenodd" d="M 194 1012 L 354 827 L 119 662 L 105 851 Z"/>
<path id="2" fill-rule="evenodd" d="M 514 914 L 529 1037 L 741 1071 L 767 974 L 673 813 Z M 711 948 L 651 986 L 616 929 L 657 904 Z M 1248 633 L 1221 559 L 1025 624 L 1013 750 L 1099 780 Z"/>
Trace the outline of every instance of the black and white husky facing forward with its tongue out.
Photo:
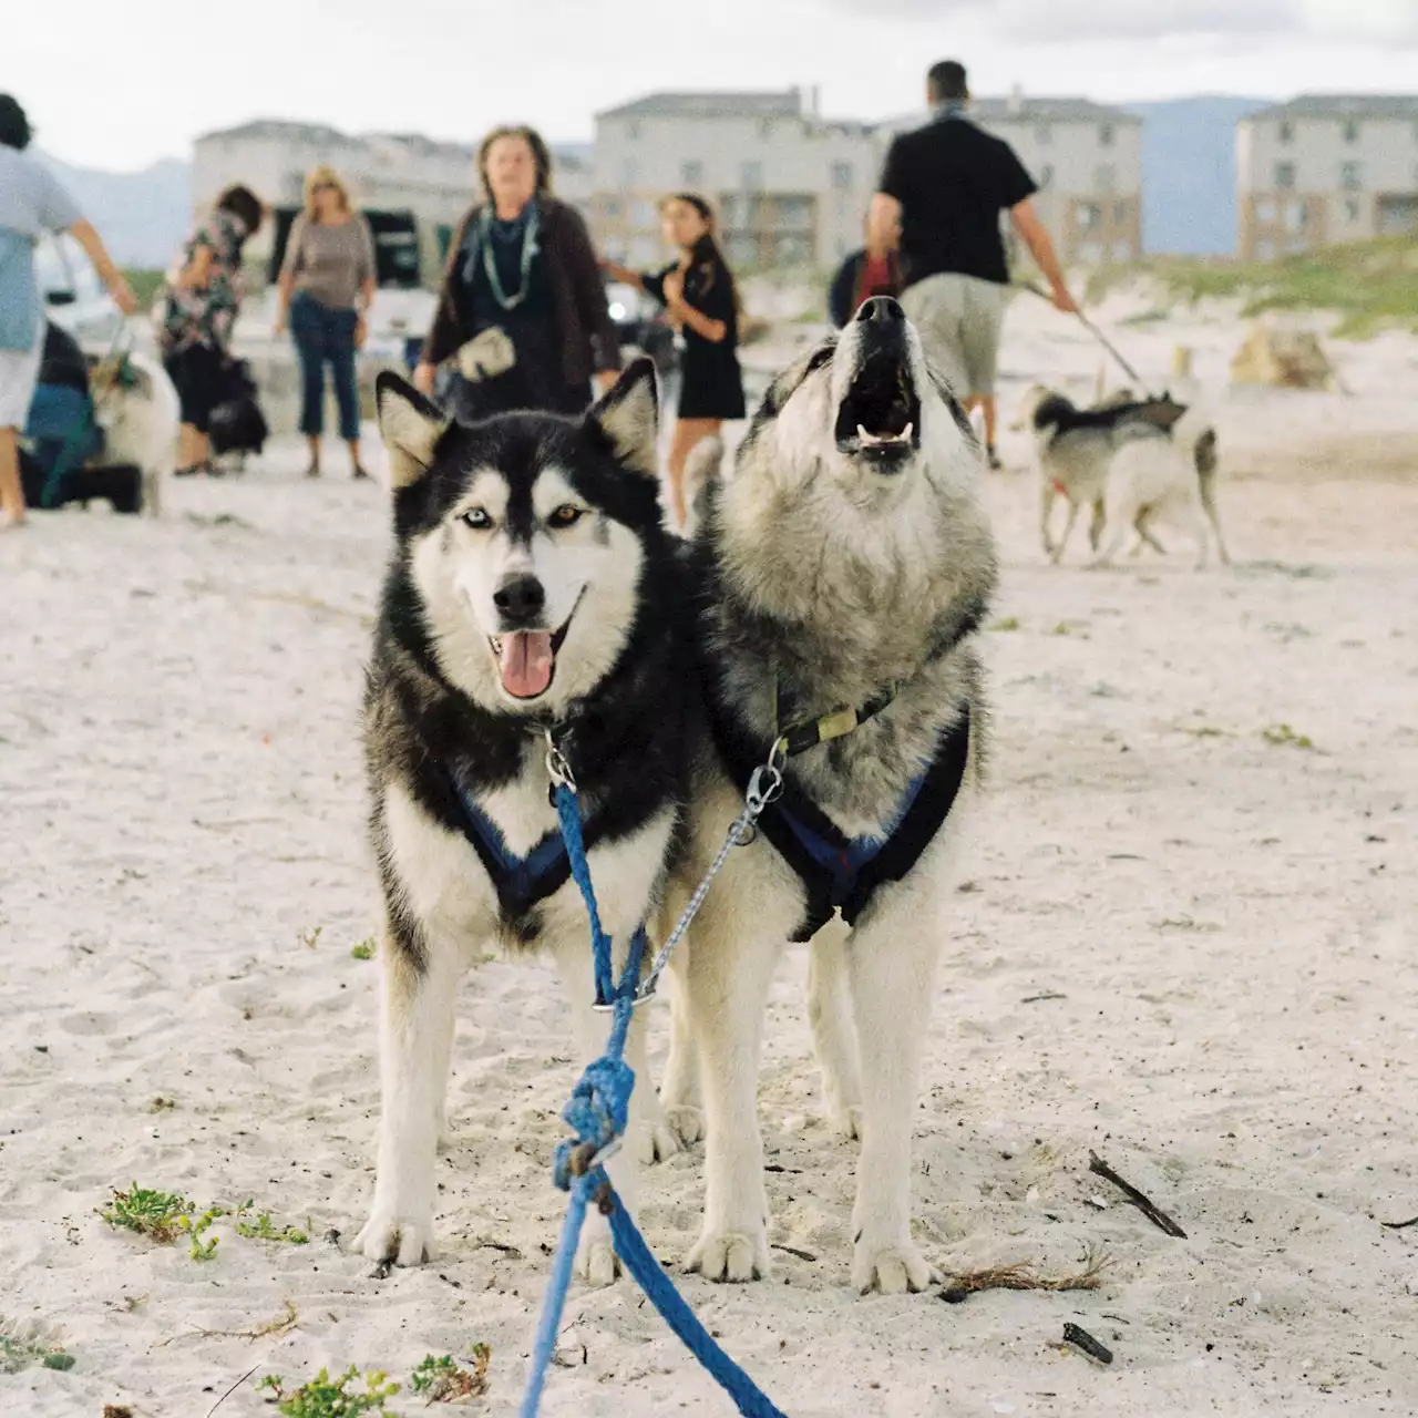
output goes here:
<path id="1" fill-rule="evenodd" d="M 623 968 L 659 903 L 683 800 L 686 594 L 661 527 L 654 367 L 641 360 L 581 423 L 450 423 L 379 380 L 396 547 L 364 703 L 370 831 L 384 893 L 379 1176 L 356 1245 L 417 1265 L 431 1251 L 434 1153 L 458 980 L 489 944 L 545 950 L 586 1061 L 596 1014 L 586 910 L 550 801 L 546 732 L 579 787 L 591 876 Z M 613 1181 L 676 1143 L 645 1078 Z M 567 1081 L 570 1083 L 570 1079 Z M 580 1273 L 614 1279 L 604 1218 Z"/>

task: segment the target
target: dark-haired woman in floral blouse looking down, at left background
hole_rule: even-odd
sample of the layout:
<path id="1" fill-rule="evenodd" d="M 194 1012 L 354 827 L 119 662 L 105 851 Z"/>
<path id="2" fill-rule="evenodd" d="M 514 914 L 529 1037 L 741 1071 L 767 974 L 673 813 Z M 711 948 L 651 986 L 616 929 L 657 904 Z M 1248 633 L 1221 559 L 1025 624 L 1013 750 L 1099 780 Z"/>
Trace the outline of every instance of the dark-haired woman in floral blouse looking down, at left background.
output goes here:
<path id="1" fill-rule="evenodd" d="M 231 328 L 241 308 L 241 248 L 265 211 L 250 187 L 228 187 L 167 278 L 157 343 L 182 400 L 177 475 L 210 472 L 207 425 L 221 390 Z"/>

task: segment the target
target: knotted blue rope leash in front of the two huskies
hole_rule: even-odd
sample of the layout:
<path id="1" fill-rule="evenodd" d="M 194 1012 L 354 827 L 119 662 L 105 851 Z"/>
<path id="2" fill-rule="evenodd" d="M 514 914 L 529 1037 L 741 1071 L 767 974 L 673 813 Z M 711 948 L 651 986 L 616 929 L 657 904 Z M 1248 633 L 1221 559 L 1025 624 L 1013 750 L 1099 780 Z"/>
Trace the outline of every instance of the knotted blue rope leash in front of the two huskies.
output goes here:
<path id="1" fill-rule="evenodd" d="M 520 1418 L 536 1418 L 542 1404 L 542 1391 L 546 1387 L 547 1370 L 556 1350 L 562 1310 L 571 1285 L 571 1262 L 576 1256 L 581 1225 L 586 1221 L 586 1208 L 593 1200 L 610 1219 L 615 1254 L 621 1263 L 645 1292 L 651 1305 L 664 1316 L 665 1323 L 733 1400 L 739 1412 L 744 1418 L 786 1418 L 753 1380 L 713 1341 L 703 1324 L 695 1319 L 674 1282 L 665 1275 L 649 1246 L 645 1245 L 644 1236 L 621 1204 L 620 1197 L 615 1195 L 615 1188 L 605 1174 L 604 1159 L 624 1136 L 630 1115 L 630 1096 L 635 1086 L 635 1075 L 625 1064 L 623 1054 L 645 954 L 645 929 L 642 926 L 635 932 L 625 970 L 620 984 L 615 984 L 611 942 L 601 929 L 596 892 L 591 888 L 591 872 L 586 861 L 586 845 L 581 841 L 581 814 L 576 804 L 576 791 L 566 783 L 556 786 L 556 811 L 571 865 L 571 876 L 581 891 L 581 899 L 586 902 L 586 912 L 591 922 L 597 1003 L 610 1004 L 614 1014 L 605 1052 L 581 1075 L 562 1112 L 562 1117 L 576 1132 L 576 1139 L 574 1141 L 563 1141 L 557 1147 L 553 1177 L 556 1185 L 569 1193 L 570 1201 L 566 1208 L 566 1219 L 562 1222 L 562 1238 L 557 1242 L 556 1256 L 552 1261 L 552 1275 L 542 1305 L 542 1317 L 537 1323 Z"/>

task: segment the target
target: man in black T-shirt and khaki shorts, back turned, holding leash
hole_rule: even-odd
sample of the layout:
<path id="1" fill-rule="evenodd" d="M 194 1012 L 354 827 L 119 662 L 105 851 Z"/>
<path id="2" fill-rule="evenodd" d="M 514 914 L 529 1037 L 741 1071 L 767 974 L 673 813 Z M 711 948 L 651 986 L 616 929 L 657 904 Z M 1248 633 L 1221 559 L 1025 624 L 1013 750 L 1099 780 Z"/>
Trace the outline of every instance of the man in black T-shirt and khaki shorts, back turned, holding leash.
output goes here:
<path id="1" fill-rule="evenodd" d="M 930 122 L 900 133 L 886 153 L 868 250 L 888 251 L 900 224 L 902 305 L 966 408 L 984 410 L 986 451 L 998 468 L 994 374 L 1010 284 L 1001 211 L 1054 288 L 1054 305 L 1065 312 L 1078 306 L 1029 201 L 1038 191 L 1034 179 L 1007 142 L 966 116 L 964 67 L 954 60 L 933 65 L 926 96 Z"/>

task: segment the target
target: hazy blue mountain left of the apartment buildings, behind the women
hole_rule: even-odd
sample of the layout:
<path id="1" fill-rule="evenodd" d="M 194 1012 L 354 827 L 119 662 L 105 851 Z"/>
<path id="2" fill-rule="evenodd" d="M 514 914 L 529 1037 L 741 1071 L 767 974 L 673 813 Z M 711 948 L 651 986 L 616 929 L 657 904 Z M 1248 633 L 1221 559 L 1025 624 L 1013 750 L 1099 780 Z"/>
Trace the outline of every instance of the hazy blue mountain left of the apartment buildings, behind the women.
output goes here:
<path id="1" fill-rule="evenodd" d="M 136 173 L 71 167 L 38 155 L 126 267 L 164 268 L 191 225 L 191 166 L 164 157 Z"/>

